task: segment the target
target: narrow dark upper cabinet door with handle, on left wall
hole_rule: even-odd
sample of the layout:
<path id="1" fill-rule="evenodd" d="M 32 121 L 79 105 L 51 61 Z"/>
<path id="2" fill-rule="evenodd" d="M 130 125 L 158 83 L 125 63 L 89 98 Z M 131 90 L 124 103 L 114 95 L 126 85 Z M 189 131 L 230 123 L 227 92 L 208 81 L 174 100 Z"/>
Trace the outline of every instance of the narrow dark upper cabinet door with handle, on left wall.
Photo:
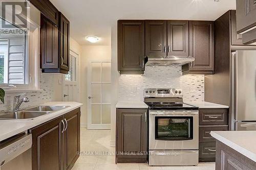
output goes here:
<path id="1" fill-rule="evenodd" d="M 59 47 L 60 47 L 60 69 L 69 71 L 69 53 L 70 53 L 70 23 L 69 20 L 59 13 Z"/>

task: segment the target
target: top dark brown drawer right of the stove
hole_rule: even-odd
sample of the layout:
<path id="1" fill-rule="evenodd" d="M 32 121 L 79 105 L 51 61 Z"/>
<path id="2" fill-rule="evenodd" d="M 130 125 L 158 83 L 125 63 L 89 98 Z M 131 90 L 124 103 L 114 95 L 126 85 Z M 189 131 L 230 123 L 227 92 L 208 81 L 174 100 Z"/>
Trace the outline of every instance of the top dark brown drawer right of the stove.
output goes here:
<path id="1" fill-rule="evenodd" d="M 227 109 L 200 109 L 199 125 L 227 125 Z"/>

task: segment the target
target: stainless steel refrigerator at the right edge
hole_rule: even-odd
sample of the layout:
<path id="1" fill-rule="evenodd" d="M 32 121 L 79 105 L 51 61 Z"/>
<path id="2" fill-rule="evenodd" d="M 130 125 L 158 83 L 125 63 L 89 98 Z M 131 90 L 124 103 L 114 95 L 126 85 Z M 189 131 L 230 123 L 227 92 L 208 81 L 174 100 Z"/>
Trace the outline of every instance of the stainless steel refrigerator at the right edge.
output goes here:
<path id="1" fill-rule="evenodd" d="M 256 51 L 233 52 L 230 69 L 231 130 L 256 130 Z"/>

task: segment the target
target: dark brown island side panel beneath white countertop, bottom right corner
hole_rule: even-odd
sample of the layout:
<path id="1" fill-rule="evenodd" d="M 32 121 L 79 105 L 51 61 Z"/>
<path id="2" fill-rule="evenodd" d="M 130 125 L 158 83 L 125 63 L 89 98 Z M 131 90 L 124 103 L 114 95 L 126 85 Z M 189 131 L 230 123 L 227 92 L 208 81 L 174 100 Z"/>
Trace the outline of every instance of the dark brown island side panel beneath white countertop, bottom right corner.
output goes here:
<path id="1" fill-rule="evenodd" d="M 256 169 L 256 162 L 217 140 L 216 169 L 253 170 Z"/>

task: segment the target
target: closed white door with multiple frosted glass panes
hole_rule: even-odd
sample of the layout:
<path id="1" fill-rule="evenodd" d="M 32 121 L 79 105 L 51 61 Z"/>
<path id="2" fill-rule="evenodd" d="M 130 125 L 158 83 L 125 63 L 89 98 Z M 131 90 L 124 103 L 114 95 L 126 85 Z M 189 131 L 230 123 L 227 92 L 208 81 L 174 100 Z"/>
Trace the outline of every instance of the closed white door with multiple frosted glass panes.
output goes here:
<path id="1" fill-rule="evenodd" d="M 88 129 L 110 129 L 111 62 L 90 62 L 88 68 Z"/>

